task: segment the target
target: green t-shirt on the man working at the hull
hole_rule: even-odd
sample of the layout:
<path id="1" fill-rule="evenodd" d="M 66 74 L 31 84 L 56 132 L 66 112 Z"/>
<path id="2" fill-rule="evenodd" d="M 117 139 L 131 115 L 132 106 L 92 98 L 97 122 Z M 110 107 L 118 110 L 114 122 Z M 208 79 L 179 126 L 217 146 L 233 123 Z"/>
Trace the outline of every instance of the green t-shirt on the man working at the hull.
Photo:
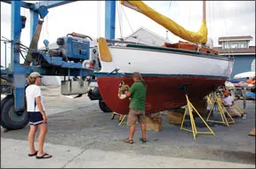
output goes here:
<path id="1" fill-rule="evenodd" d="M 146 102 L 146 87 L 144 86 L 143 82 L 134 82 L 132 87 L 129 89 L 129 92 L 132 94 L 129 108 L 144 111 Z"/>

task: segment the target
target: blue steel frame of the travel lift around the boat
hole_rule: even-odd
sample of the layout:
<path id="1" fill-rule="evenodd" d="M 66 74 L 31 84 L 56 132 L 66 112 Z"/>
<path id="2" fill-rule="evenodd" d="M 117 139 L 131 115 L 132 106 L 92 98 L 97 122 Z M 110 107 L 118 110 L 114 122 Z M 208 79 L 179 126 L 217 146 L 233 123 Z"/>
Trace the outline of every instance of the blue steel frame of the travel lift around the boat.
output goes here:
<path id="1" fill-rule="evenodd" d="M 2 2 L 12 4 L 12 56 L 10 69 L 1 71 L 1 73 L 13 74 L 14 110 L 24 111 L 26 75 L 28 73 L 32 73 L 33 71 L 37 71 L 44 75 L 47 73 L 47 70 L 45 70 L 44 68 L 38 68 L 36 66 L 25 67 L 20 64 L 20 46 L 17 45 L 17 42 L 20 42 L 20 34 L 22 29 L 20 20 L 20 7 L 27 8 L 30 11 L 30 39 L 32 39 L 39 19 L 38 9 L 40 5 L 44 5 L 47 9 L 49 9 L 63 4 L 73 3 L 76 1 L 42 1 L 36 4 L 26 3 L 20 0 L 4 0 Z M 105 37 L 107 39 L 115 39 L 116 1 L 112 0 L 105 2 L 105 17 Z M 44 56 L 44 58 L 47 58 L 47 56 Z M 58 62 L 57 60 L 51 61 L 49 58 L 47 58 L 47 61 L 51 62 L 52 65 L 56 65 L 56 63 L 59 63 L 62 65 L 62 67 L 70 67 L 68 63 Z M 74 68 L 74 66 L 75 65 L 72 65 L 72 68 Z M 75 67 L 81 67 L 81 64 L 77 64 Z M 77 70 L 73 71 L 73 73 L 77 74 Z M 90 72 L 83 69 L 80 69 L 78 73 L 80 75 L 91 75 Z"/>

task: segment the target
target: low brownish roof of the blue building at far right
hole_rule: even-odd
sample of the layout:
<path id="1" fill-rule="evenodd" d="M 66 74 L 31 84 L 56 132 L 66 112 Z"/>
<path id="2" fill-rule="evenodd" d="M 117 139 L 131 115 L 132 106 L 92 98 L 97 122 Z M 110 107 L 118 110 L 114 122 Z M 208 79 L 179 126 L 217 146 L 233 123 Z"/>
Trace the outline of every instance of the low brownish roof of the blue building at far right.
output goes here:
<path id="1" fill-rule="evenodd" d="M 233 54 L 233 55 L 255 55 L 255 46 L 249 46 L 249 49 L 222 49 L 222 47 L 213 47 L 213 50 L 219 51 L 219 54 Z"/>

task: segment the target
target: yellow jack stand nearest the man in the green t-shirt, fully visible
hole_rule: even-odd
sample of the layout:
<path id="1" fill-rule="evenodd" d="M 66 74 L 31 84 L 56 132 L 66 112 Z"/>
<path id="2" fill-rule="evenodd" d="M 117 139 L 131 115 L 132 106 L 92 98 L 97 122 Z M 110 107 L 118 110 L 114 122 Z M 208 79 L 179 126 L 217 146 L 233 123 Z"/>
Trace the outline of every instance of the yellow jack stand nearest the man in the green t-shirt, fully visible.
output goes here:
<path id="1" fill-rule="evenodd" d="M 184 115 L 183 115 L 180 130 L 185 130 L 185 131 L 188 131 L 188 132 L 192 132 L 195 140 L 196 140 L 196 134 L 213 134 L 213 135 L 215 135 L 214 132 L 212 131 L 212 128 L 207 125 L 207 123 L 204 121 L 202 116 L 198 113 L 198 111 L 196 111 L 196 108 L 193 106 L 193 104 L 190 103 L 187 94 L 185 96 L 186 96 L 186 99 L 187 99 L 187 106 L 186 106 L 186 109 L 185 109 L 185 112 L 184 112 Z M 199 116 L 200 119 L 202 119 L 202 121 L 204 122 L 204 125 L 210 130 L 210 132 L 198 132 L 197 131 L 195 119 L 194 119 L 193 113 L 192 113 L 193 110 L 196 111 L 196 114 Z M 192 130 L 183 128 L 183 123 L 184 123 L 187 111 L 189 112 L 189 117 L 190 117 Z"/>

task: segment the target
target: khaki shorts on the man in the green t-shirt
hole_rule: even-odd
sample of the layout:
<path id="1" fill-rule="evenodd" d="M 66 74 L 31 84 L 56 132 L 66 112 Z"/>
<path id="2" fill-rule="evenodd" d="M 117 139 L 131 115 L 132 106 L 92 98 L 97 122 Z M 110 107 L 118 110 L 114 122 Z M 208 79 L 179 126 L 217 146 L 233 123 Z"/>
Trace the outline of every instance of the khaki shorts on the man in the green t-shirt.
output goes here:
<path id="1" fill-rule="evenodd" d="M 137 111 L 130 109 L 127 119 L 127 125 L 128 126 L 134 126 L 136 125 L 136 122 L 141 124 L 145 124 L 145 111 Z"/>

